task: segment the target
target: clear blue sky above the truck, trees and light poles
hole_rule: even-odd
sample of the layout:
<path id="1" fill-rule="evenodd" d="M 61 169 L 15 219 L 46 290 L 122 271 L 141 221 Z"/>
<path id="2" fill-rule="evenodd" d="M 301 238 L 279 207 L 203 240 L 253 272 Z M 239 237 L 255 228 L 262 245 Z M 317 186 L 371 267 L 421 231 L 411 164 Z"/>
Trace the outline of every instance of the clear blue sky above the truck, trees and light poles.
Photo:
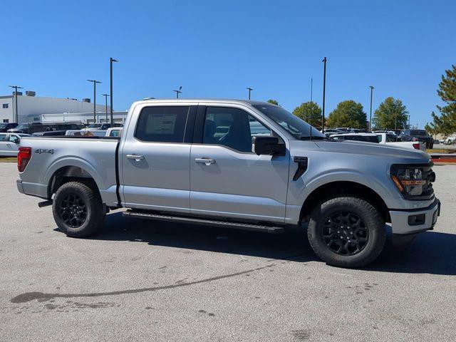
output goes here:
<path id="1" fill-rule="evenodd" d="M 436 89 L 456 63 L 455 1 L 9 1 L 0 28 L 0 94 L 16 83 L 38 95 L 92 97 L 87 78 L 114 108 L 147 96 L 274 98 L 293 110 L 327 110 L 353 99 L 369 110 L 388 95 L 423 127 Z M 97 102 L 103 102 L 101 98 Z"/>

